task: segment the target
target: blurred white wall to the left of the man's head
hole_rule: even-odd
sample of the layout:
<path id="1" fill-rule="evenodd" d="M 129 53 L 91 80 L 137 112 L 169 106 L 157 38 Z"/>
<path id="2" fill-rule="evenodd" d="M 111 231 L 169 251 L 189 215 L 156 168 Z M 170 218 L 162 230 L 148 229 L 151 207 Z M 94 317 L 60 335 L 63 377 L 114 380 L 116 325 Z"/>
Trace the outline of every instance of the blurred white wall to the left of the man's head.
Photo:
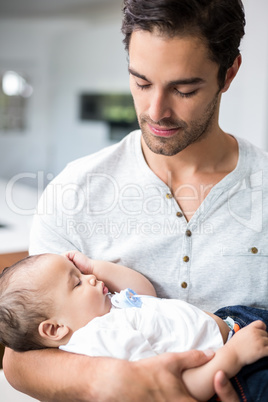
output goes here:
<path id="1" fill-rule="evenodd" d="M 111 144 L 105 124 L 79 121 L 78 96 L 129 92 L 120 29 L 121 0 L 73 20 L 0 19 L 0 73 L 28 72 L 34 86 L 27 130 L 0 132 L 0 177 L 41 170 L 46 181 L 68 161 Z"/>

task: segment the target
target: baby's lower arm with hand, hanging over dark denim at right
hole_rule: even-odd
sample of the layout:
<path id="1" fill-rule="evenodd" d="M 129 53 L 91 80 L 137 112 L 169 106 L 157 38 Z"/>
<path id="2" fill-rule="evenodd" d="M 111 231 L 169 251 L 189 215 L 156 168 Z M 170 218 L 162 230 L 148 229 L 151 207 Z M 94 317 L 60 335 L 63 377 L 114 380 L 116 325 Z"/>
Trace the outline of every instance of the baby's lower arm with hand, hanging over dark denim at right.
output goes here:
<path id="1" fill-rule="evenodd" d="M 188 391 L 200 401 L 207 401 L 215 391 L 213 379 L 219 370 L 234 377 L 243 366 L 268 356 L 268 335 L 262 321 L 254 321 L 239 330 L 214 358 L 203 366 L 186 370 L 183 381 Z"/>

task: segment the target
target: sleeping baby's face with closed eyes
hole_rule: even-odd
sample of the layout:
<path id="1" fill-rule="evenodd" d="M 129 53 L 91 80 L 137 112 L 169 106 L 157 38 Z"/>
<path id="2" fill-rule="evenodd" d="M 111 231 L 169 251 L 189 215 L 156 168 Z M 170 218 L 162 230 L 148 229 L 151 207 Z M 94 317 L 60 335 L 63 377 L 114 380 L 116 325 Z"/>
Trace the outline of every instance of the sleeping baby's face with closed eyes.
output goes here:
<path id="1" fill-rule="evenodd" d="M 105 284 L 94 275 L 82 274 L 65 256 L 45 256 L 38 277 L 41 288 L 48 290 L 53 301 L 53 317 L 72 331 L 111 309 Z"/>

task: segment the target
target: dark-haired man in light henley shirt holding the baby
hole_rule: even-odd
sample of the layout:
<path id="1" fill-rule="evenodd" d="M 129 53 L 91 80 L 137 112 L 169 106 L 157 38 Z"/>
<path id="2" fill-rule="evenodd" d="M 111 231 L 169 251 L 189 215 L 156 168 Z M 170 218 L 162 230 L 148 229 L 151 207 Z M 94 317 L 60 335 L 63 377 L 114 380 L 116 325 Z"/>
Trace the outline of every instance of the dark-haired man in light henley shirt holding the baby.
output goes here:
<path id="1" fill-rule="evenodd" d="M 124 1 L 142 136 L 78 160 L 54 180 L 31 253 L 77 248 L 120 261 L 145 274 L 158 296 L 201 308 L 268 307 L 268 216 L 260 215 L 267 155 L 218 124 L 221 95 L 241 64 L 244 22 L 240 0 Z M 251 207 L 259 212 L 253 221 Z M 207 359 L 192 351 L 129 363 L 46 350 L 9 352 L 4 364 L 13 385 L 39 399 L 192 401 L 181 372 Z M 224 373 L 215 391 L 238 400 Z"/>

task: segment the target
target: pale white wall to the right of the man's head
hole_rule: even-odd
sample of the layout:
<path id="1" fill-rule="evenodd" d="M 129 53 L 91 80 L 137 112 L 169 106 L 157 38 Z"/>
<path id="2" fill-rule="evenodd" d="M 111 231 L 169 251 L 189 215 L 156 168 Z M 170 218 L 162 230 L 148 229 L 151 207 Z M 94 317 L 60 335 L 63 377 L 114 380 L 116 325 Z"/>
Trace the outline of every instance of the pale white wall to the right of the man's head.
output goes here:
<path id="1" fill-rule="evenodd" d="M 243 4 L 242 66 L 222 97 L 220 123 L 227 132 L 268 150 L 268 2 L 243 0 Z"/>

